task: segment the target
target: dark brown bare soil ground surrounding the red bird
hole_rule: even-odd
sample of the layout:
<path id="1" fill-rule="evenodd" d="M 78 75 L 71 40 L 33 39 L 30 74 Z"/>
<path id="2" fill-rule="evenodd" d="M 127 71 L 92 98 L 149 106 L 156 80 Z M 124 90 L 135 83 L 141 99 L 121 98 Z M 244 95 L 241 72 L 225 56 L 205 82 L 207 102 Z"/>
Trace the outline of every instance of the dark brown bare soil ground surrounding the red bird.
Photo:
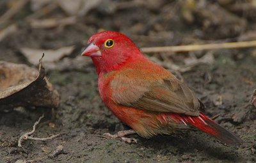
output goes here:
<path id="1" fill-rule="evenodd" d="M 54 62 L 55 68 L 45 65 L 47 78 L 61 95 L 60 106 L 53 115 L 51 108 L 42 107 L 0 111 L 0 162 L 256 162 L 256 108 L 248 106 L 256 89 L 255 48 L 148 55 L 158 62 L 167 60 L 184 66 L 184 60 L 200 59 L 212 53 L 214 62 L 198 64 L 181 74 L 205 104 L 206 115 L 220 115 L 216 122 L 241 136 L 242 145 L 223 145 L 199 131 L 151 139 L 134 134 L 137 144 L 100 138 L 105 132 L 115 133 L 127 127 L 102 103 L 90 59 L 76 58 L 92 34 L 99 29 L 115 30 L 127 34 L 140 47 L 166 46 L 253 39 L 253 34 L 248 32 L 253 32 L 256 25 L 250 14 L 246 17 L 225 8 L 224 4 L 196 4 L 189 9 L 185 1 L 128 2 L 104 3 L 65 27 L 31 27 L 28 20 L 22 19 L 32 12 L 29 4 L 13 18 L 19 29 L 1 41 L 0 60 L 32 66 L 20 48 L 57 49 L 75 45 L 76 49 Z M 119 7 L 110 10 L 109 6 L 114 4 Z M 211 10 L 205 10 L 207 7 Z M 61 15 L 65 14 L 57 8 L 50 16 Z M 40 59 L 41 54 L 36 55 Z M 73 60 L 72 64 L 67 64 L 68 60 Z M 18 147 L 19 137 L 31 131 L 43 113 L 45 117 L 33 136 L 60 136 L 44 142 L 23 141 L 22 147 Z M 53 155 L 59 145 L 63 151 Z"/>

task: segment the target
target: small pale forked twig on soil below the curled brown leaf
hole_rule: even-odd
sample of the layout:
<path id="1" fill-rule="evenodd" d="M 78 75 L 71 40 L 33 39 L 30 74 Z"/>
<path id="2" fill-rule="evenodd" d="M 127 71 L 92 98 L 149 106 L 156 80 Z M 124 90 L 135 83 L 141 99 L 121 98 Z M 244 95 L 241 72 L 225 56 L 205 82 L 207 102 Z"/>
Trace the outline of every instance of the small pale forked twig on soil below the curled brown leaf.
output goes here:
<path id="1" fill-rule="evenodd" d="M 22 139 L 25 139 L 25 140 L 26 140 L 26 139 L 31 139 L 31 140 L 37 140 L 37 141 L 47 141 L 47 140 L 49 140 L 49 139 L 53 139 L 53 138 L 55 138 L 55 137 L 57 137 L 57 136 L 60 135 L 60 134 L 56 134 L 56 135 L 50 136 L 50 137 L 48 137 L 48 138 L 33 138 L 33 137 L 31 137 L 31 135 L 32 135 L 32 134 L 35 132 L 35 130 L 36 130 L 36 125 L 39 124 L 39 122 L 40 122 L 40 120 L 41 120 L 42 118 L 44 118 L 44 114 L 43 114 L 41 117 L 38 118 L 38 121 L 35 122 L 35 124 L 33 125 L 33 130 L 32 130 L 32 131 L 26 132 L 25 134 L 23 134 L 22 136 L 20 136 L 19 141 L 18 141 L 18 146 L 19 146 L 19 147 L 22 146 L 22 145 L 21 145 Z"/>

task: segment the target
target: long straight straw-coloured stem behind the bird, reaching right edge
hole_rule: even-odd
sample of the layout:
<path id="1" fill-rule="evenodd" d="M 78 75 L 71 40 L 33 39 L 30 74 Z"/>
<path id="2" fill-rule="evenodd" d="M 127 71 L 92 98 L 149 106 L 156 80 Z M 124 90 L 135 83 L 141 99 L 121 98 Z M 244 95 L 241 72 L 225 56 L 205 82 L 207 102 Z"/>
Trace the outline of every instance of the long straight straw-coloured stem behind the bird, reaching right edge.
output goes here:
<path id="1" fill-rule="evenodd" d="M 140 48 L 141 52 L 191 52 L 200 50 L 213 50 L 220 48 L 249 48 L 255 47 L 256 41 L 241 41 L 233 43 L 212 43 L 205 45 L 180 45 L 180 46 L 159 46 L 159 47 L 144 47 Z"/>

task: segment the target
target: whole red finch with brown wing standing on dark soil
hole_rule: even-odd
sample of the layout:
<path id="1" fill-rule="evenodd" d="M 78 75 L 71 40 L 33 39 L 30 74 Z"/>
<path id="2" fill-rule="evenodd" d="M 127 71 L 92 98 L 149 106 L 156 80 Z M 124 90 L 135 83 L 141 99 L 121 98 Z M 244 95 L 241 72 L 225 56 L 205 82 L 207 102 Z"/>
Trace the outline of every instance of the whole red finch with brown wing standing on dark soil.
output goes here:
<path id="1" fill-rule="evenodd" d="M 204 108 L 194 93 L 175 76 L 148 60 L 124 34 L 104 31 L 93 35 L 82 55 L 90 56 L 99 74 L 99 93 L 109 110 L 132 130 L 110 138 L 138 133 L 144 138 L 175 134 L 193 126 L 223 143 L 242 143 L 236 134 L 200 112 Z"/>

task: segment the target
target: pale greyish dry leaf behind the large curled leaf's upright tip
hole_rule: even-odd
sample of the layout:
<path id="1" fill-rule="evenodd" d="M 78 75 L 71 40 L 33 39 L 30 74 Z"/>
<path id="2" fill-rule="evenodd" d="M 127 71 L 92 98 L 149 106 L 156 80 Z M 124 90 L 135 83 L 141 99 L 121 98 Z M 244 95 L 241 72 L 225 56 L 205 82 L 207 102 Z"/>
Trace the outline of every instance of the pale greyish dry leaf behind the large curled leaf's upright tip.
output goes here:
<path id="1" fill-rule="evenodd" d="M 73 52 L 75 46 L 66 46 L 57 50 L 44 50 L 33 48 L 21 48 L 20 51 L 25 55 L 31 64 L 38 64 L 38 54 L 45 53 L 44 62 L 55 62 Z"/>

